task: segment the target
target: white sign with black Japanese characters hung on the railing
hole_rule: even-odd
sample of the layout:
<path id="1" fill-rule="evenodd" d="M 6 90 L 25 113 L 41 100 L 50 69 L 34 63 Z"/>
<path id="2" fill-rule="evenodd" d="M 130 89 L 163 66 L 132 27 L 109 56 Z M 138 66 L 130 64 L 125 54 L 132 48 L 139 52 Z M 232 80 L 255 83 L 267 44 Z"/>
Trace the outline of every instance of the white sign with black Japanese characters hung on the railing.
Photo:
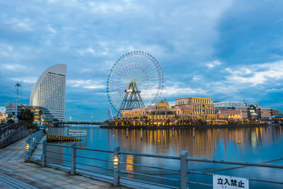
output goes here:
<path id="1" fill-rule="evenodd" d="M 213 175 L 214 189 L 248 189 L 248 178 Z"/>

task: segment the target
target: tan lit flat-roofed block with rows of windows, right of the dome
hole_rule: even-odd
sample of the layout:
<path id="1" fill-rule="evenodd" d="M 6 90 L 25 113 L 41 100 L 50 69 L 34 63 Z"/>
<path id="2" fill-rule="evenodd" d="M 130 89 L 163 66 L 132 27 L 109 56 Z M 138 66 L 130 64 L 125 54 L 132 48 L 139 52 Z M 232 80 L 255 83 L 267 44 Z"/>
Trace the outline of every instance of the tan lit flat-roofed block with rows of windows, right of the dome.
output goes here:
<path id="1" fill-rule="evenodd" d="M 175 107 L 192 109 L 192 119 L 216 119 L 214 103 L 211 98 L 176 98 Z"/>

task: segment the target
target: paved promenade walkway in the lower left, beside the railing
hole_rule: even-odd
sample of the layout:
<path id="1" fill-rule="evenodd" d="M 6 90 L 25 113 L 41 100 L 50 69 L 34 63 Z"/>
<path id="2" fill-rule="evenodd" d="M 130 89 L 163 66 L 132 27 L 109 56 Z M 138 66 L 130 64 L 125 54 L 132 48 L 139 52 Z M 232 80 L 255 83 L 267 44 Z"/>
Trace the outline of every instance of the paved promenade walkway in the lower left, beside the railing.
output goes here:
<path id="1" fill-rule="evenodd" d="M 25 139 L 0 150 L 0 188 L 125 188 L 25 163 Z"/>

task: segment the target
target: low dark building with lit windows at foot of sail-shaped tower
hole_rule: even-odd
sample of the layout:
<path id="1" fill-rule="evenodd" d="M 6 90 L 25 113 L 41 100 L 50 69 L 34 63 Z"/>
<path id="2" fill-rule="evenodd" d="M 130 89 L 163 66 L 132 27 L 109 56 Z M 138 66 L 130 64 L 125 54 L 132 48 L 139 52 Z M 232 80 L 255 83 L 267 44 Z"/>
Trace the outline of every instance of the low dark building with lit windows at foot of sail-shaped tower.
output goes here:
<path id="1" fill-rule="evenodd" d="M 53 120 L 53 116 L 50 113 L 50 111 L 47 110 L 47 108 L 42 108 L 40 106 L 34 106 L 34 105 L 21 105 L 18 107 L 18 109 L 20 113 L 22 110 L 30 110 L 31 113 L 33 113 L 34 115 L 34 122 L 37 122 L 37 123 Z"/>

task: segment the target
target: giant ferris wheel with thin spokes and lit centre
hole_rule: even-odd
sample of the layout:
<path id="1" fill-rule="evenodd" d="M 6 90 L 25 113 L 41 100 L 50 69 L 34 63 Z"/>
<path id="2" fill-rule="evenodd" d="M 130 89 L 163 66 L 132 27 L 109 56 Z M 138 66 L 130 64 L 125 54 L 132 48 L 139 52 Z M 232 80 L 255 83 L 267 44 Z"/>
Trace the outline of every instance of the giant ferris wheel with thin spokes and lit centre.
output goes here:
<path id="1" fill-rule="evenodd" d="M 108 75 L 108 100 L 118 113 L 151 105 L 162 88 L 160 65 L 152 55 L 143 51 L 122 55 Z"/>

